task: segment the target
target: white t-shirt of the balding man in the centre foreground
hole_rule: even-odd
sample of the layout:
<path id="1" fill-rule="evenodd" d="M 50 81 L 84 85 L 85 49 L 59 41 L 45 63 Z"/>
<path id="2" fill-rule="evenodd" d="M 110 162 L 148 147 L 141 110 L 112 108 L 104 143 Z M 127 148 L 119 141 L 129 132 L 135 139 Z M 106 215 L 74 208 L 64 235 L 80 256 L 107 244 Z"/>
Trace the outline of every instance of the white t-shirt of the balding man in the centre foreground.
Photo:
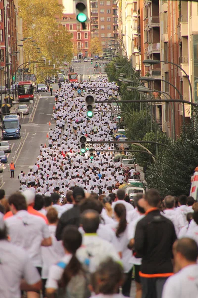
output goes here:
<path id="1" fill-rule="evenodd" d="M 76 256 L 81 263 L 89 259 L 90 272 L 94 272 L 108 257 L 114 261 L 120 261 L 115 247 L 110 242 L 99 238 L 97 234 L 84 234 L 82 246 L 77 250 Z"/>

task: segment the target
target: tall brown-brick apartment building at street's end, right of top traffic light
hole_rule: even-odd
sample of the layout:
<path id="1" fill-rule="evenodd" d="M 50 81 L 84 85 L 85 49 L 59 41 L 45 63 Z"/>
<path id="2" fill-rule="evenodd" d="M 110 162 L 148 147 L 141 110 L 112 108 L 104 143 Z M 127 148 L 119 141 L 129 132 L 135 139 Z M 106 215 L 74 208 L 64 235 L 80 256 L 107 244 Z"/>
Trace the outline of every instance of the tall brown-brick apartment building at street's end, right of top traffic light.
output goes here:
<path id="1" fill-rule="evenodd" d="M 109 47 L 110 37 L 118 36 L 117 18 L 116 0 L 90 0 L 91 38 L 97 37 L 103 50 Z"/>

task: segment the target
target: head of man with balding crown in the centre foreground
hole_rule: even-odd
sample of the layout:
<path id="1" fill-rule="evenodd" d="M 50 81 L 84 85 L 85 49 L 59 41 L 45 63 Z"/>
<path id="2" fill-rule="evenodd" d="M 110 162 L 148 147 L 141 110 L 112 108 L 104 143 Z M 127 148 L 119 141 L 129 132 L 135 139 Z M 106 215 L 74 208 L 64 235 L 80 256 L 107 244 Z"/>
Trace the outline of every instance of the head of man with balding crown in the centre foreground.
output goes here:
<path id="1" fill-rule="evenodd" d="M 81 214 L 81 224 L 85 233 L 96 233 L 99 223 L 99 213 L 96 210 L 88 209 Z"/>

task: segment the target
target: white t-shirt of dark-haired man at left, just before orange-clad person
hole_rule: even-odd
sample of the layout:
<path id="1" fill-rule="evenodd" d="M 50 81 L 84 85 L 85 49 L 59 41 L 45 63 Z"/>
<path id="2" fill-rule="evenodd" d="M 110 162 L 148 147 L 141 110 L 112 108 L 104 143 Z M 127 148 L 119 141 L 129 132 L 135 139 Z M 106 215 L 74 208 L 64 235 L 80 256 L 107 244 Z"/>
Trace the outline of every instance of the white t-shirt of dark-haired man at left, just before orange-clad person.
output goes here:
<path id="1" fill-rule="evenodd" d="M 20 210 L 5 220 L 10 240 L 23 247 L 35 267 L 42 267 L 41 242 L 50 237 L 48 225 L 43 218 Z"/>

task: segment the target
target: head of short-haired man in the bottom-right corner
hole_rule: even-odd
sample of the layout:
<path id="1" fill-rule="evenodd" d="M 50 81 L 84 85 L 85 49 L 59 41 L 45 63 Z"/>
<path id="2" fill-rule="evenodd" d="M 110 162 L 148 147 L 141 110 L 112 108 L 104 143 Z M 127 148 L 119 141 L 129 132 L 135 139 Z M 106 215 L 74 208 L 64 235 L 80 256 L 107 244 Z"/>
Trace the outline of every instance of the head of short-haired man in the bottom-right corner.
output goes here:
<path id="1" fill-rule="evenodd" d="M 190 238 L 179 239 L 173 245 L 173 255 L 179 270 L 188 265 L 196 264 L 198 257 L 197 243 Z"/>

